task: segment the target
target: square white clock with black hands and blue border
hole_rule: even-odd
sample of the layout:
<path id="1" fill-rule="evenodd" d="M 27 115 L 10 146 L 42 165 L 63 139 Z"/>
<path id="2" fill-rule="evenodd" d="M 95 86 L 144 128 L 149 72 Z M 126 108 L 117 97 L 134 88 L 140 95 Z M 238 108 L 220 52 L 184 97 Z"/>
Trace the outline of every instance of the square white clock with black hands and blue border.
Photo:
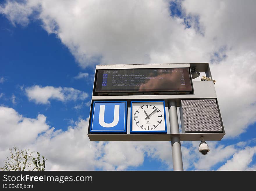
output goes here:
<path id="1" fill-rule="evenodd" d="M 131 101 L 132 133 L 167 133 L 164 101 Z"/>

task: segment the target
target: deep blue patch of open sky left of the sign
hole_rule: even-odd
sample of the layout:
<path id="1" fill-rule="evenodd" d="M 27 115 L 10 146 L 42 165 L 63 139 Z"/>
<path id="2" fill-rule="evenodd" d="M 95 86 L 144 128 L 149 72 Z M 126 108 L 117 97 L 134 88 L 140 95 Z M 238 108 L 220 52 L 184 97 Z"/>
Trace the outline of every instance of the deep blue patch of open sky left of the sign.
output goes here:
<path id="1" fill-rule="evenodd" d="M 38 113 L 49 115 L 47 120 L 56 128 L 67 128 L 68 121 L 89 115 L 84 105 L 76 110 L 75 105 L 90 101 L 91 97 L 79 102 L 62 103 L 53 100 L 49 105 L 31 103 L 21 87 L 33 85 L 72 87 L 88 94 L 92 92 L 93 82 L 74 79 L 83 72 L 72 54 L 55 34 L 48 34 L 40 27 L 40 22 L 32 22 L 26 27 L 13 26 L 1 15 L 1 76 L 5 82 L 1 91 L 5 94 L 4 104 L 11 105 L 25 117 L 35 118 Z M 93 68 L 86 72 L 94 74 Z M 12 96 L 17 97 L 15 104 Z"/>

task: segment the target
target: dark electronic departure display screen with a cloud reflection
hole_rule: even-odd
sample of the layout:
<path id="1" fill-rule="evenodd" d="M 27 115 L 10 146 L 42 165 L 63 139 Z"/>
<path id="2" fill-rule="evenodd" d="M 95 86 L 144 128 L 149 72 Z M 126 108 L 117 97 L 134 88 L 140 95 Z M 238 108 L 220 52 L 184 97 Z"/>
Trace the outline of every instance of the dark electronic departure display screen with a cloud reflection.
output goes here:
<path id="1" fill-rule="evenodd" d="M 192 91 L 189 68 L 97 70 L 95 92 Z"/>

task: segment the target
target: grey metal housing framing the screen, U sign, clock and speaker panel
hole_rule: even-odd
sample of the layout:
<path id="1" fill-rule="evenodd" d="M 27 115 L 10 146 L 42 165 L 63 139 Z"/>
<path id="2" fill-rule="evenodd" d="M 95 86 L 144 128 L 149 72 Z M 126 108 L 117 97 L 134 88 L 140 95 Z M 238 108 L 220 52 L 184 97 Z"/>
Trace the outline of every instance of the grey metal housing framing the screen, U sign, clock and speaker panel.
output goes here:
<path id="1" fill-rule="evenodd" d="M 113 134 L 113 132 L 106 133 L 93 133 L 91 128 L 88 128 L 88 137 L 91 141 L 171 141 L 172 137 L 180 137 L 181 141 L 200 141 L 201 137 L 205 140 L 221 140 L 225 135 L 223 122 L 221 119 L 221 113 L 218 106 L 218 100 L 213 81 L 192 81 L 191 68 L 195 68 L 197 72 L 205 72 L 206 77 L 212 79 L 212 75 L 209 68 L 209 63 L 166 63 L 166 64 L 125 64 L 125 65 L 97 65 L 95 70 L 95 80 L 93 87 L 92 104 L 90 108 L 89 127 L 93 123 L 93 105 L 95 102 L 114 102 L 121 101 L 127 102 L 127 118 L 126 118 L 126 132 L 123 134 Z M 186 92 L 96 92 L 97 73 L 99 70 L 122 70 L 122 69 L 157 69 L 157 68 L 189 68 L 189 74 L 191 78 L 192 91 Z M 166 84 L 168 86 L 168 84 Z M 174 101 L 177 107 L 180 107 L 182 100 L 215 100 L 216 107 L 218 109 L 218 116 L 221 124 L 221 131 L 202 131 L 195 132 L 182 132 L 180 134 L 170 132 L 170 118 L 169 118 L 169 106 L 170 101 Z M 136 133 L 131 132 L 131 101 L 140 102 L 154 102 L 164 101 L 164 110 L 166 113 L 166 133 Z M 145 116 L 146 117 L 146 116 Z M 113 121 L 113 118 L 112 118 Z M 111 120 L 110 120 L 111 122 Z M 109 122 L 109 123 L 110 123 Z M 182 122 L 183 123 L 183 122 Z M 200 125 L 200 124 L 199 124 Z M 182 124 L 184 126 L 184 124 Z"/>

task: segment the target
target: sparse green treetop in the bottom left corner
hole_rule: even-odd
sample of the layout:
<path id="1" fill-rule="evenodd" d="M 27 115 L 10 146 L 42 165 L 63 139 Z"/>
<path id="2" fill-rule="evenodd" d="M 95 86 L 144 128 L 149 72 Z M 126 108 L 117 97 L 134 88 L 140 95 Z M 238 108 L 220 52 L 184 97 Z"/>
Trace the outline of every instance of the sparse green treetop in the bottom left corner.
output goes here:
<path id="1" fill-rule="evenodd" d="M 33 151 L 34 152 L 34 151 Z M 40 163 L 40 153 L 37 152 L 37 160 L 35 157 L 32 157 L 33 152 L 30 149 L 19 150 L 16 146 L 9 149 L 10 157 L 6 157 L 4 161 L 4 167 L 1 167 L 1 170 L 45 170 L 45 159 L 42 156 L 43 161 Z M 35 166 L 33 166 L 33 164 Z"/>

